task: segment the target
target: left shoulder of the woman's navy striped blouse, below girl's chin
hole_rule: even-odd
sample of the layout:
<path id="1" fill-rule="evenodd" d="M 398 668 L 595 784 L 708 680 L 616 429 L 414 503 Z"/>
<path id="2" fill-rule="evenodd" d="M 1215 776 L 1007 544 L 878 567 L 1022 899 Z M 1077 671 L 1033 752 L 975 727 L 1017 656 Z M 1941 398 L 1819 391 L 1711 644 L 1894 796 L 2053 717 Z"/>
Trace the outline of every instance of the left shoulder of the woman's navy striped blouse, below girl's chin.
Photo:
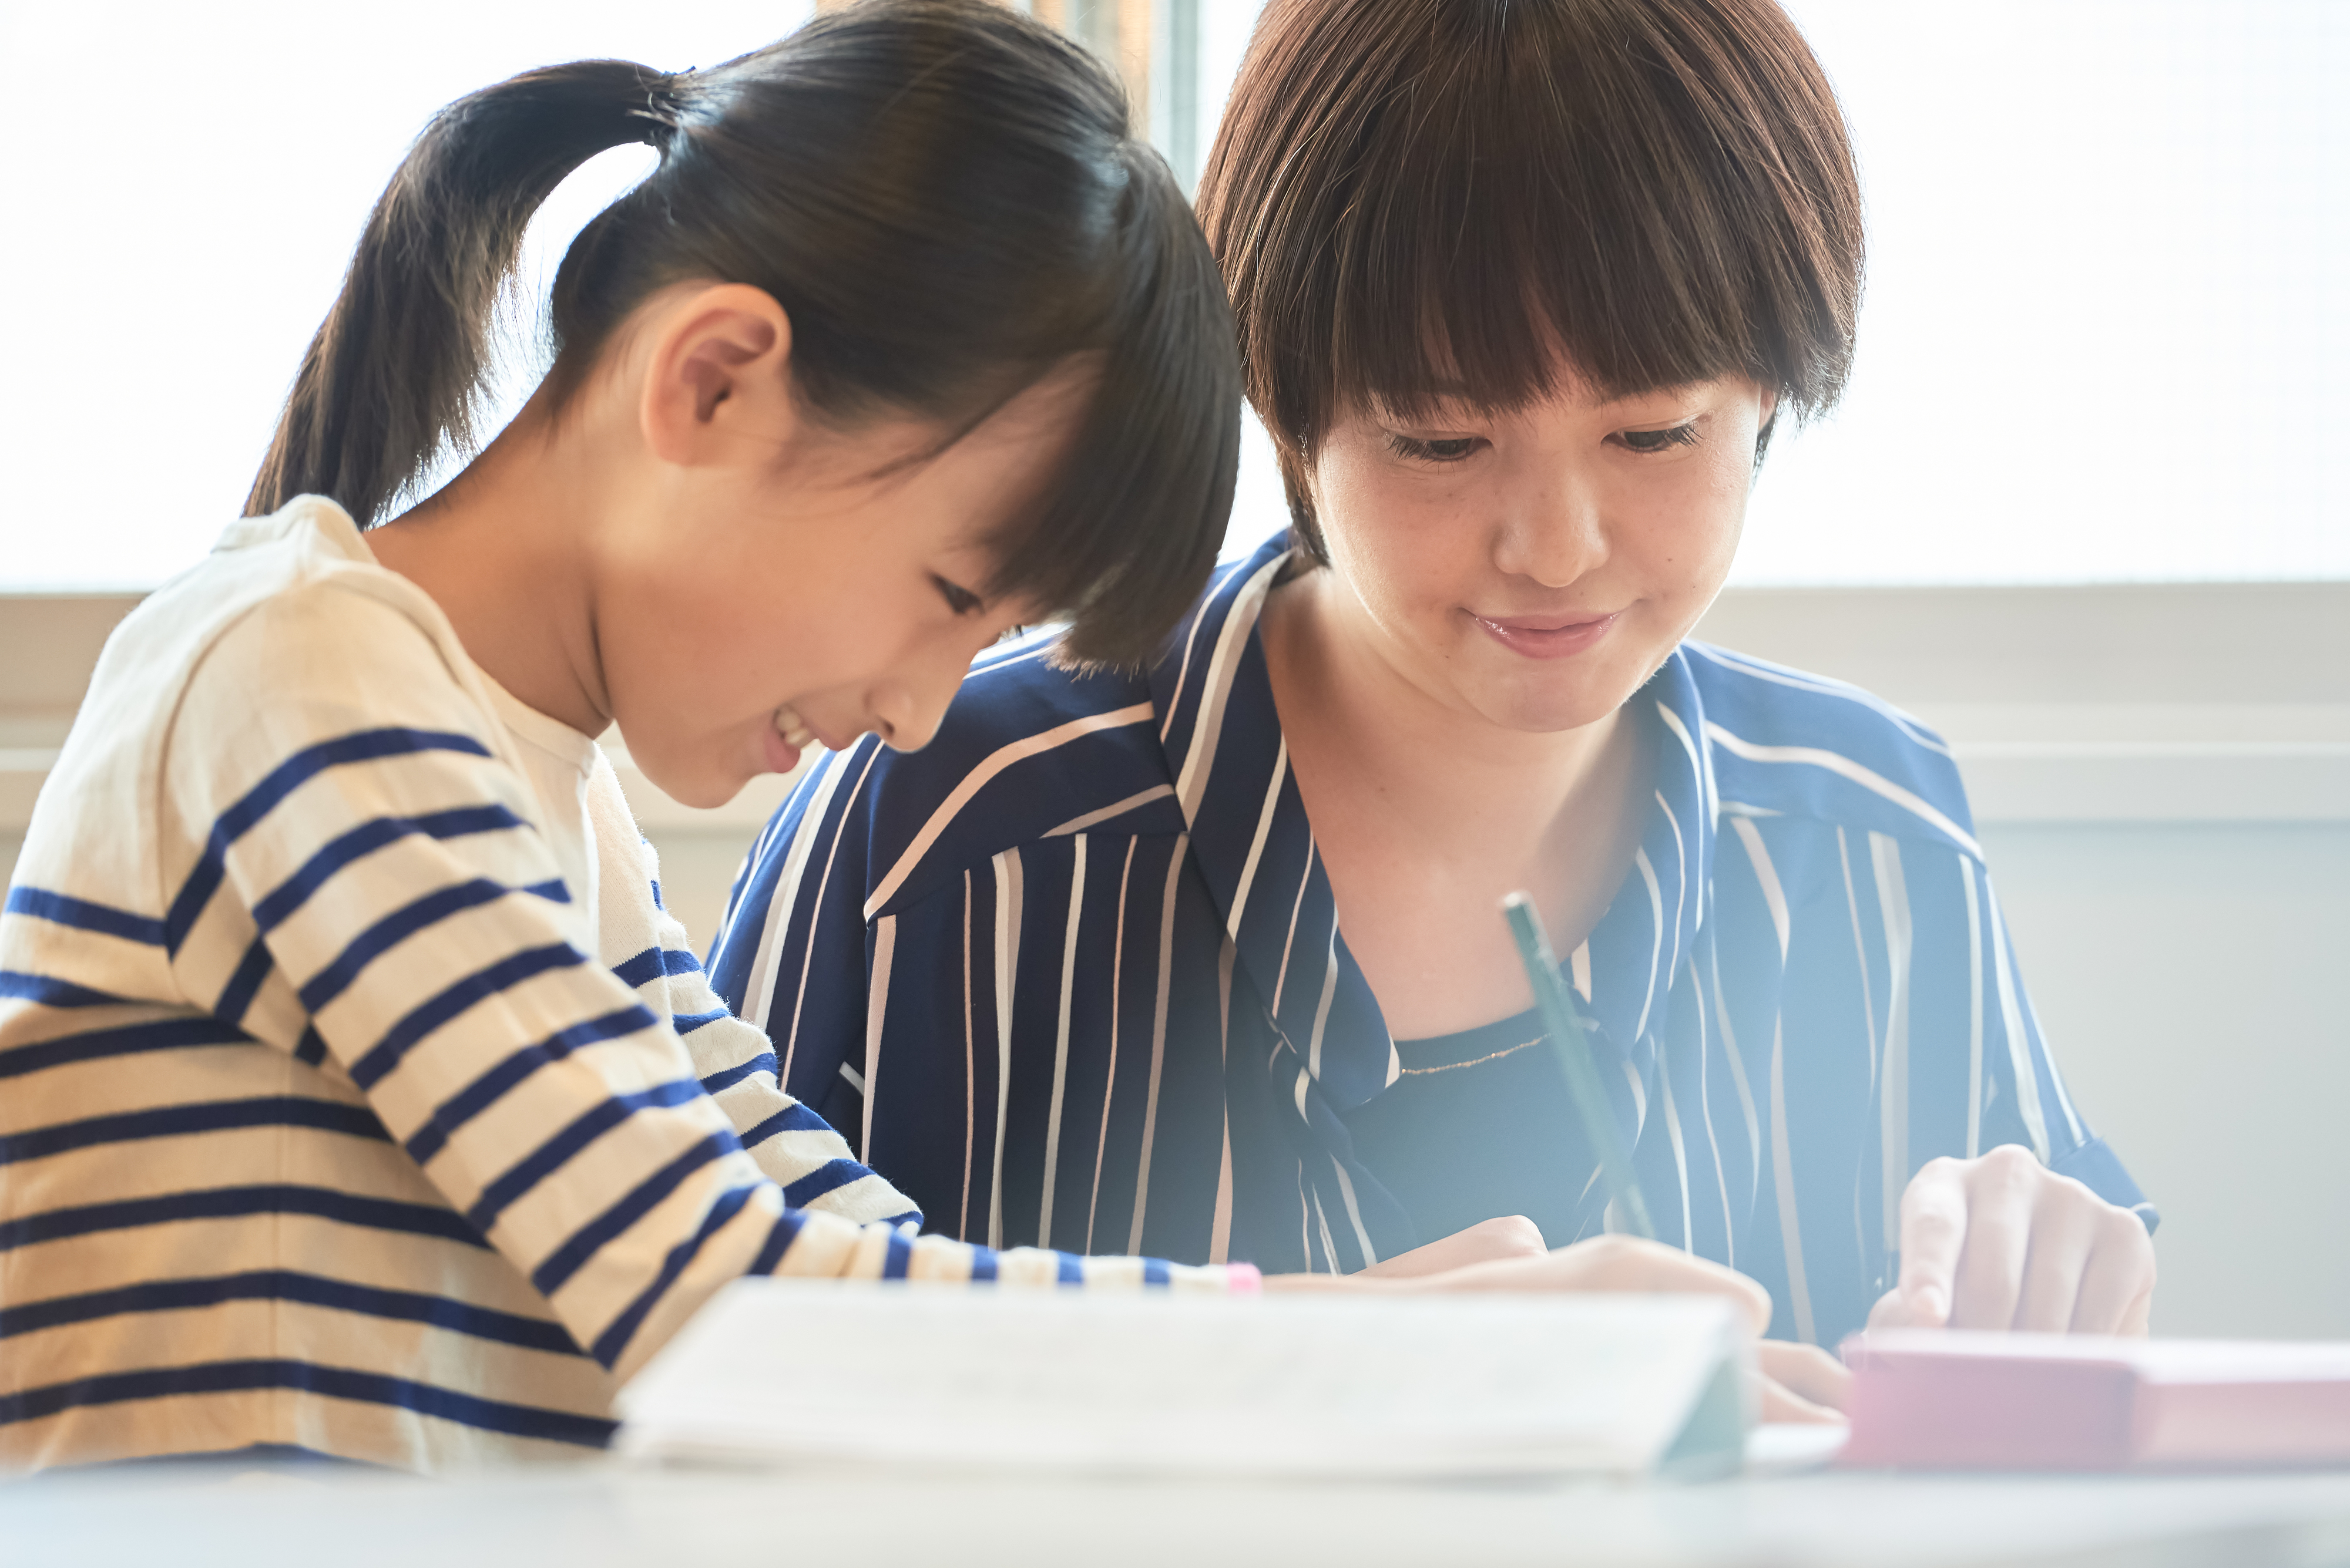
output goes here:
<path id="1" fill-rule="evenodd" d="M 1149 676 L 1069 669 L 1043 631 L 980 655 L 921 751 L 865 737 L 822 761 L 761 854 L 822 822 L 862 838 L 867 913 L 928 897 L 964 866 L 1088 829 L 1180 833 Z"/>

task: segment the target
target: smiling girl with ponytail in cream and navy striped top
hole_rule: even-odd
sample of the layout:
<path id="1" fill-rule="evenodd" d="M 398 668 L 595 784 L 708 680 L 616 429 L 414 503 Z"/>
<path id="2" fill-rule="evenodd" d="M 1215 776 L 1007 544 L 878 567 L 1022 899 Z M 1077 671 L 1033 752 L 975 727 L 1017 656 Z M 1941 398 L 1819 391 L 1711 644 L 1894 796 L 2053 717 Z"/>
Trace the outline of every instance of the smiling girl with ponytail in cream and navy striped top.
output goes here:
<path id="1" fill-rule="evenodd" d="M 432 120 L 249 516 L 108 643 L 7 894 L 0 1465 L 578 1453 L 738 1275 L 1255 1286 L 916 1239 L 712 995 L 590 739 L 719 803 L 813 742 L 921 746 L 1013 622 L 1156 646 L 1238 373 L 1126 117 L 1036 23 L 877 0 Z M 402 509 L 531 211 L 634 141 L 660 164 L 564 256 L 552 373 Z"/>

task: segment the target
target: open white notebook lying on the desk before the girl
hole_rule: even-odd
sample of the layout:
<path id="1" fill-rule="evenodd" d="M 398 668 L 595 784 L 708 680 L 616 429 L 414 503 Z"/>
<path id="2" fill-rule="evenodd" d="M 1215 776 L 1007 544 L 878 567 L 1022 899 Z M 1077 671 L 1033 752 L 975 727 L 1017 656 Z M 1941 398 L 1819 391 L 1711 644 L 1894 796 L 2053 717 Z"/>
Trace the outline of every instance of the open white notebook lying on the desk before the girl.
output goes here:
<path id="1" fill-rule="evenodd" d="M 1748 1350 L 1701 1296 L 1112 1296 L 743 1279 L 623 1453 L 1248 1476 L 1713 1474 Z"/>

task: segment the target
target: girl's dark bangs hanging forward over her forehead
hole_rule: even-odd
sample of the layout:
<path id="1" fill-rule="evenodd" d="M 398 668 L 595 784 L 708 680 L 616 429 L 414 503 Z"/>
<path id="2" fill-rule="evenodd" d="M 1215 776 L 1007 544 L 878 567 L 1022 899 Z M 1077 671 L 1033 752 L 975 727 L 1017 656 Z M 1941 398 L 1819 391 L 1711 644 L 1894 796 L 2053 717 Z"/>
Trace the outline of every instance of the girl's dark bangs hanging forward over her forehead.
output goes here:
<path id="1" fill-rule="evenodd" d="M 989 596 L 1069 620 L 1060 657 L 1140 664 L 1208 587 L 1241 465 L 1241 364 L 1222 279 L 1175 176 L 1128 153 L 1100 380 Z"/>

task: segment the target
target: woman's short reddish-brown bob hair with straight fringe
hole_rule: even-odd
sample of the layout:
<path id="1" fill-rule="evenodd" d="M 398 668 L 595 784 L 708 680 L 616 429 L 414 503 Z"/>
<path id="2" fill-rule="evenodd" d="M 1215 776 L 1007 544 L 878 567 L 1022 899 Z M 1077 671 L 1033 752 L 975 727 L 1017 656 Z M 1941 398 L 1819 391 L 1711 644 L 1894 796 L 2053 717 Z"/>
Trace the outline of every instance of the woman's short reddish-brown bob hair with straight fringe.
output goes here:
<path id="1" fill-rule="evenodd" d="M 1271 0 L 1198 211 L 1316 559 L 1347 408 L 1744 373 L 1807 418 L 1852 364 L 1852 146 L 1772 0 Z"/>

